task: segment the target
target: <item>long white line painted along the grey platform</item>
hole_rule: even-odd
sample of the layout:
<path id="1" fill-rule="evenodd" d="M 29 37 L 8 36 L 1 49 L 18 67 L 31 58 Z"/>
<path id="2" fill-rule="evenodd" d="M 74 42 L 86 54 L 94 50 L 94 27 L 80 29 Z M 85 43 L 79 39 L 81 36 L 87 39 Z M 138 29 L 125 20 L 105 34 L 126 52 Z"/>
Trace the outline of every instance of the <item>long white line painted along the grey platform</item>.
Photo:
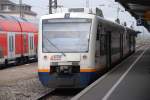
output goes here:
<path id="1" fill-rule="evenodd" d="M 113 87 L 106 93 L 106 95 L 102 98 L 102 100 L 107 100 L 110 95 L 113 93 L 113 91 L 117 88 L 117 86 L 121 83 L 121 81 L 125 78 L 125 76 L 128 74 L 128 72 L 133 68 L 133 66 L 140 60 L 140 58 L 144 55 L 144 53 L 147 51 L 148 48 L 146 48 L 143 53 L 140 54 L 140 56 L 132 63 L 132 65 L 124 72 L 124 74 L 119 78 L 119 80 L 116 82 L 116 84 L 113 85 Z"/>

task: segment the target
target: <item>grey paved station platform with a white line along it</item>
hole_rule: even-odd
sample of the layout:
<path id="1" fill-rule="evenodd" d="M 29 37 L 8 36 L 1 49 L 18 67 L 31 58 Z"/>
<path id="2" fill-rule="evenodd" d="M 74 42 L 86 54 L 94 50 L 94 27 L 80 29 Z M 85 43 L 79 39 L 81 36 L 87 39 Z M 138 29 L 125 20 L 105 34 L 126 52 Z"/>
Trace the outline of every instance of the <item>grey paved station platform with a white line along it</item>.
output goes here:
<path id="1" fill-rule="evenodd" d="M 150 47 L 139 48 L 71 100 L 150 100 Z"/>

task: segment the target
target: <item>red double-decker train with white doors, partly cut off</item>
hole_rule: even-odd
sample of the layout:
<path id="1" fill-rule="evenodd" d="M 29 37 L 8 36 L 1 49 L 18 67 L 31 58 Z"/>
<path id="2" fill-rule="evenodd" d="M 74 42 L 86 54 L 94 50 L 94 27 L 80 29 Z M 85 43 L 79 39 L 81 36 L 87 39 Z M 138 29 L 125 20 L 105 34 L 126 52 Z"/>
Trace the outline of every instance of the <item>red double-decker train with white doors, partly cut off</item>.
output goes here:
<path id="1" fill-rule="evenodd" d="M 37 59 L 38 30 L 25 19 L 0 15 L 0 66 Z"/>

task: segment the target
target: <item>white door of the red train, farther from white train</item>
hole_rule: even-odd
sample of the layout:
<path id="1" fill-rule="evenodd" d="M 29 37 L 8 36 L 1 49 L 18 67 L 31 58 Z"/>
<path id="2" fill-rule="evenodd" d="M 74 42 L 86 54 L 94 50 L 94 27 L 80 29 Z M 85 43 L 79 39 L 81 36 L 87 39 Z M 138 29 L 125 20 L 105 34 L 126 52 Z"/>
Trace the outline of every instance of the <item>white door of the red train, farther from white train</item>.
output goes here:
<path id="1" fill-rule="evenodd" d="M 8 59 L 15 57 L 15 33 L 8 33 Z"/>

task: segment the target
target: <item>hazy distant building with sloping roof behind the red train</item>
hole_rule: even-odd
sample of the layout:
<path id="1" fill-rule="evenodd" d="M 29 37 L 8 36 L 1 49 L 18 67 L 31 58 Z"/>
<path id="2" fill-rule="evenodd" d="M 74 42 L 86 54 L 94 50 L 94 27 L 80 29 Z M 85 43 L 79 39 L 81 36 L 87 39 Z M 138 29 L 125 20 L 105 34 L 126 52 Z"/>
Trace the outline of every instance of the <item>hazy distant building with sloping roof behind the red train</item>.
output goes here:
<path id="1" fill-rule="evenodd" d="M 24 18 L 34 19 L 37 16 L 37 14 L 31 10 L 30 5 L 22 4 L 20 7 L 19 4 L 13 3 L 10 0 L 0 0 L 0 14 L 19 17 L 20 8 Z"/>

